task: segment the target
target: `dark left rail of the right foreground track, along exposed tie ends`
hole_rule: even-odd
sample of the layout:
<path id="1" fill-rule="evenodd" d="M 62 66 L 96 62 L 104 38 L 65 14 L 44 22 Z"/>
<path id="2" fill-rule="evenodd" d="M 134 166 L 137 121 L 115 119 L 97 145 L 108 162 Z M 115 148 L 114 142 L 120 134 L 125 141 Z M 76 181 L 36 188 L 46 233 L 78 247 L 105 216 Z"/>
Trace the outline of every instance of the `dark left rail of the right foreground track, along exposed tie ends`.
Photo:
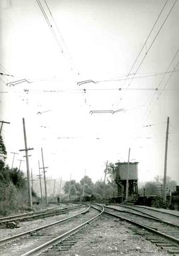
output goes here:
<path id="1" fill-rule="evenodd" d="M 158 235 L 160 235 L 160 236 L 162 236 L 162 237 L 166 237 L 167 239 L 170 239 L 170 240 L 172 240 L 172 241 L 178 243 L 178 245 L 179 245 L 179 239 L 177 239 L 177 238 L 175 238 L 175 237 L 171 237 L 170 235 L 167 235 L 167 234 L 162 233 L 162 232 L 160 232 L 160 231 L 157 231 L 156 229 L 152 229 L 151 227 L 149 227 L 149 226 L 147 226 L 147 225 L 145 225 L 145 224 L 141 224 L 141 223 L 139 223 L 139 222 L 137 222 L 137 221 L 133 221 L 133 220 L 131 220 L 131 219 L 128 219 L 127 217 L 115 215 L 115 214 L 109 213 L 109 212 L 107 212 L 107 211 L 104 211 L 104 213 L 109 214 L 109 215 L 111 215 L 111 216 L 113 216 L 113 217 L 117 217 L 117 218 L 119 218 L 119 219 L 124 219 L 125 221 L 127 221 L 127 222 L 129 222 L 129 223 L 131 223 L 131 224 L 133 224 L 133 225 L 137 225 L 137 226 L 139 226 L 139 227 L 143 227 L 144 229 L 147 229 L 147 230 L 151 231 L 152 233 L 156 233 L 156 234 L 158 234 Z"/>

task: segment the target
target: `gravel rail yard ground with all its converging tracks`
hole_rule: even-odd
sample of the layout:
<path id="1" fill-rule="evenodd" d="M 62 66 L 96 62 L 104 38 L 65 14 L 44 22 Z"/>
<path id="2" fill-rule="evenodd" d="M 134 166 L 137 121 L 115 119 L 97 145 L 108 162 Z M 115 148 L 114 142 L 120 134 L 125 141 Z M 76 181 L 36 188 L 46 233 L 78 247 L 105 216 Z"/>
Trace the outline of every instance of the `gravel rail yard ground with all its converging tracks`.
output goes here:
<path id="1" fill-rule="evenodd" d="M 46 214 L 1 218 L 1 255 L 179 255 L 178 211 L 71 203 Z"/>

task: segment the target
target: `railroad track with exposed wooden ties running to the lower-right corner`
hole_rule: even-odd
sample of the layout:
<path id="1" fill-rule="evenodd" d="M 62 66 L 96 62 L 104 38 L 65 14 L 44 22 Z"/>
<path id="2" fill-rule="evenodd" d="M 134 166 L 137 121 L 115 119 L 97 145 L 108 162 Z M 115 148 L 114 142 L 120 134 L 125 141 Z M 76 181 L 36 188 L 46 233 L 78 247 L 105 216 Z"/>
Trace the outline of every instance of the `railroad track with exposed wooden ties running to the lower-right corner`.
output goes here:
<path id="1" fill-rule="evenodd" d="M 145 239 L 168 251 L 168 253 L 179 255 L 178 223 L 165 221 L 156 216 L 152 217 L 151 213 L 147 212 L 137 213 L 131 207 L 128 209 L 123 206 L 104 206 L 104 208 L 105 213 L 133 224 L 131 229 L 138 235 L 142 235 Z"/>

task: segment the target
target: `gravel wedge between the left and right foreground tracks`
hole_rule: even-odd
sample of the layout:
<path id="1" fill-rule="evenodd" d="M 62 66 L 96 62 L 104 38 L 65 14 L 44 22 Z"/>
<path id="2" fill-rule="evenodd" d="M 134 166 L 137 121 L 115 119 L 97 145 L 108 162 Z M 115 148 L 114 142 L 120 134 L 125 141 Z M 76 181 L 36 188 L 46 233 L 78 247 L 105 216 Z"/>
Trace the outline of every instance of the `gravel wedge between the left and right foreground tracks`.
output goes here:
<path id="1" fill-rule="evenodd" d="M 166 251 L 135 235 L 131 224 L 108 216 L 101 216 L 88 227 L 72 237 L 80 240 L 68 251 L 59 251 L 62 256 L 166 256 Z M 69 240 L 70 241 L 70 240 Z M 44 254 L 45 255 L 45 254 Z M 171 254 L 170 254 L 171 255 Z"/>

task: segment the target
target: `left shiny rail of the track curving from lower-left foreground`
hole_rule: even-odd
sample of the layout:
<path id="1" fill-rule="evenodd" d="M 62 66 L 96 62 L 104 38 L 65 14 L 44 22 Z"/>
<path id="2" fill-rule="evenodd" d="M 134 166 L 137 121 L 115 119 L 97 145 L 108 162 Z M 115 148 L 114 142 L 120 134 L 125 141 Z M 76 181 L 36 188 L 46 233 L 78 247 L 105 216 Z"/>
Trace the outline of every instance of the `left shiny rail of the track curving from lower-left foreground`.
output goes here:
<path id="1" fill-rule="evenodd" d="M 38 230 L 40 230 L 40 229 L 45 229 L 45 228 L 47 228 L 47 227 L 51 227 L 52 225 L 56 225 L 56 224 L 62 223 L 62 222 L 64 222 L 64 221 L 68 221 L 69 219 L 72 219 L 72 218 L 74 218 L 74 217 L 77 217 L 77 216 L 80 215 L 80 214 L 86 213 L 86 211 L 88 211 L 89 209 L 90 209 L 90 206 L 88 205 L 88 208 L 85 209 L 84 211 L 82 211 L 81 213 L 77 213 L 77 214 L 72 215 L 72 216 L 70 216 L 70 217 L 68 217 L 68 218 L 61 219 L 60 221 L 56 221 L 56 222 L 50 223 L 50 224 L 48 224 L 48 225 L 44 225 L 44 226 L 42 226 L 42 227 L 37 227 L 36 229 L 30 229 L 29 231 L 25 231 L 25 232 L 23 232 L 23 233 L 20 233 L 20 234 L 17 234 L 17 235 L 13 235 L 13 236 L 11 236 L 11 237 L 7 237 L 7 238 L 4 238 L 4 239 L 1 239 L 1 240 L 0 240 L 0 245 L 3 245 L 3 244 L 5 244 L 5 243 L 7 243 L 7 242 L 9 242 L 9 241 L 11 241 L 11 240 L 17 239 L 17 238 L 22 237 L 22 236 L 24 236 L 24 235 L 28 235 L 28 234 L 34 233 L 35 231 L 38 231 Z"/>

